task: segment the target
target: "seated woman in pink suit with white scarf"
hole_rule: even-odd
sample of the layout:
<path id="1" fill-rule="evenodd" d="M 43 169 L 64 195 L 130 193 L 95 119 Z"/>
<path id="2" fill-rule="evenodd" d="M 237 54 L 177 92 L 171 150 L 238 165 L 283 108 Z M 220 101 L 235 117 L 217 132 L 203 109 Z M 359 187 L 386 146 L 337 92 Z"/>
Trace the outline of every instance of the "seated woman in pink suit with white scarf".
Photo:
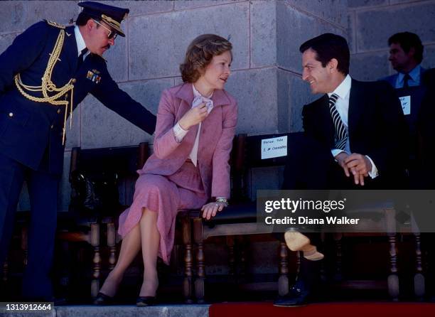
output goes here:
<path id="1" fill-rule="evenodd" d="M 112 301 L 140 249 L 144 282 L 136 303 L 154 303 L 157 257 L 169 263 L 178 210 L 201 208 L 203 217 L 210 219 L 227 206 L 228 161 L 237 123 L 237 102 L 223 90 L 231 73 L 231 49 L 220 36 L 198 36 L 180 65 L 183 84 L 163 91 L 154 154 L 138 171 L 134 201 L 119 217 L 121 252 L 96 304 Z M 210 197 L 213 202 L 207 203 Z"/>

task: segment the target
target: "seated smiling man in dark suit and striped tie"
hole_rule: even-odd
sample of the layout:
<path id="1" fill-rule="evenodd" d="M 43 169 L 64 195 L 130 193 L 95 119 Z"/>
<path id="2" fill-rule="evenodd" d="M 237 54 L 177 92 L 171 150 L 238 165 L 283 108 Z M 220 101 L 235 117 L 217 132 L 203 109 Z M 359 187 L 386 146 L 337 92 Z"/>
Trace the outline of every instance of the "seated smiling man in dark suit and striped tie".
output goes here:
<path id="1" fill-rule="evenodd" d="M 326 33 L 300 47 L 302 79 L 324 94 L 302 111 L 304 135 L 290 141 L 284 189 L 400 188 L 404 178 L 401 143 L 406 125 L 400 102 L 387 82 L 359 82 L 349 75 L 345 38 Z M 305 256 L 311 240 L 291 230 L 291 250 L 304 251 L 300 276 L 277 306 L 305 303 L 316 283 L 318 262 Z M 322 259 L 323 257 L 316 257 Z"/>

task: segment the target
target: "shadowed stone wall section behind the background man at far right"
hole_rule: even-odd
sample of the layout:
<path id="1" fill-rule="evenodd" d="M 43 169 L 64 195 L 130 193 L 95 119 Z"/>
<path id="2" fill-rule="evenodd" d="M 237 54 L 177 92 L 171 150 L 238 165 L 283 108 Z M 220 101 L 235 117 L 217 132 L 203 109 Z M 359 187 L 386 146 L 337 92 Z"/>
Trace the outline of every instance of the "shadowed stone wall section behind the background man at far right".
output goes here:
<path id="1" fill-rule="evenodd" d="M 435 67 L 434 0 L 348 0 L 350 75 L 359 80 L 377 80 L 394 74 L 388 61 L 388 38 L 404 31 L 421 38 L 421 65 Z"/>

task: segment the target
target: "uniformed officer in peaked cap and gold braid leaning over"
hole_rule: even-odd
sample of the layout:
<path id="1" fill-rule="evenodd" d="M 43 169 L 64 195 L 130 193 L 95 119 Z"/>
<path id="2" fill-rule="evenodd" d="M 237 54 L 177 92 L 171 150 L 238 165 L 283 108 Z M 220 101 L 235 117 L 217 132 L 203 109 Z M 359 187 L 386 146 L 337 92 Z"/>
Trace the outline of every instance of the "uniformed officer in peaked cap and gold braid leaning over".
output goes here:
<path id="1" fill-rule="evenodd" d="M 26 299 L 50 300 L 49 278 L 63 171 L 65 123 L 88 93 L 149 134 L 156 117 L 119 89 L 102 54 L 124 36 L 129 9 L 80 2 L 76 26 L 41 21 L 0 55 L 0 265 L 11 240 L 23 181 L 28 183 L 31 223 Z M 98 124 L 98 123 L 96 123 Z"/>

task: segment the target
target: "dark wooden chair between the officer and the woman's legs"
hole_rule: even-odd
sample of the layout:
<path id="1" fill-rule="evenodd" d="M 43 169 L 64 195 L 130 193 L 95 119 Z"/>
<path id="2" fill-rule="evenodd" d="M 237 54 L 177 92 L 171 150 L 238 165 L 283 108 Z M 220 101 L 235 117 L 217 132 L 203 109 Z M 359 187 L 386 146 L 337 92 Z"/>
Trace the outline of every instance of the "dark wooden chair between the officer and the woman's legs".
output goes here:
<path id="1" fill-rule="evenodd" d="M 119 213 L 132 201 L 138 176 L 136 170 L 144 166 L 148 156 L 149 145 L 145 142 L 139 146 L 75 147 L 72 150 L 69 174 L 71 203 L 68 213 L 58 213 L 57 239 L 60 243 L 66 242 L 65 249 L 73 242 L 85 242 L 87 247 L 92 248 L 92 297 L 100 289 L 101 248 L 108 248 L 108 269 L 113 269 L 117 262 L 115 223 Z M 114 182 L 112 187 L 107 184 L 109 182 Z M 102 193 L 104 190 L 109 190 L 109 193 Z M 112 203 L 100 201 L 107 199 L 107 195 L 114 196 L 109 200 Z M 106 245 L 102 245 L 102 240 Z"/>

